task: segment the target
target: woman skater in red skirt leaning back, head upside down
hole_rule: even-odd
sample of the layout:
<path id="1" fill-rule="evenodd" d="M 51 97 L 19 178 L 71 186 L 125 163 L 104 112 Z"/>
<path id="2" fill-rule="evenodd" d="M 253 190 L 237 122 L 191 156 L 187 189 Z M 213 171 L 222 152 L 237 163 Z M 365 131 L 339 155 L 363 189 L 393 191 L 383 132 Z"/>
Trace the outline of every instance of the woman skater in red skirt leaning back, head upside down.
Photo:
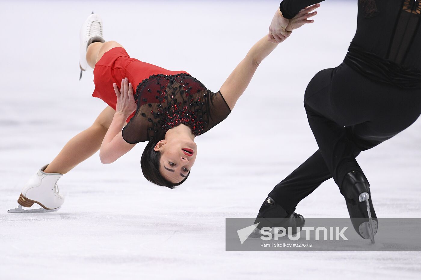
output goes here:
<path id="1" fill-rule="evenodd" d="M 307 18 L 316 14 L 311 13 L 315 8 L 301 11 L 291 23 L 298 28 L 312 22 Z M 277 46 L 266 36 L 259 40 L 214 93 L 186 71 L 168 71 L 141 62 L 117 42 L 105 42 L 101 18 L 96 14 L 87 18 L 80 36 L 80 69 L 84 71 L 87 65 L 94 69 L 93 96 L 108 106 L 90 128 L 72 138 L 51 164 L 30 178 L 19 196 L 18 208 L 9 212 L 31 211 L 21 206 L 33 203 L 43 207 L 36 211 L 58 209 L 64 202 L 56 185 L 62 174 L 100 148 L 101 162 L 112 163 L 142 141 L 149 141 L 141 156 L 146 179 L 168 188 L 180 185 L 195 163 L 195 137 L 228 116 L 258 65 Z"/>

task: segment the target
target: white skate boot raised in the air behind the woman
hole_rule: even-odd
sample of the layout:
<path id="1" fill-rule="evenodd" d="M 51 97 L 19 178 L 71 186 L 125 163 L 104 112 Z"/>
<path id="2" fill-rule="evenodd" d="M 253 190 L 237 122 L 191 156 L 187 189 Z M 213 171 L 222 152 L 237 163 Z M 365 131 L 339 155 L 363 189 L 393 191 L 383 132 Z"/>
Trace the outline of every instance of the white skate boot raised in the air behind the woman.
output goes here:
<path id="1" fill-rule="evenodd" d="M 86 61 L 86 50 L 88 45 L 93 42 L 104 43 L 105 40 L 102 35 L 102 19 L 96 13 L 91 13 L 91 15 L 86 18 L 82 27 L 80 28 L 80 77 L 82 79 L 82 71 L 86 71 L 88 68 L 88 62 Z"/>

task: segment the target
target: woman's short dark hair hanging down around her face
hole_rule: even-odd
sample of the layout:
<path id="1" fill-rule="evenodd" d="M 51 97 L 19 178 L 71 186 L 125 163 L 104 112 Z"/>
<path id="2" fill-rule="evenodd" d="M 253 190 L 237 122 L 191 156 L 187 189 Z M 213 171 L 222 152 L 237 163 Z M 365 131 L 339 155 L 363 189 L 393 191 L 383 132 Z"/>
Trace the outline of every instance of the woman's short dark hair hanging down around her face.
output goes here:
<path id="1" fill-rule="evenodd" d="M 185 177 L 184 180 L 182 180 L 179 183 L 174 184 L 168 180 L 165 180 L 165 178 L 162 177 L 161 173 L 159 172 L 159 161 L 161 158 L 161 152 L 154 150 L 155 145 L 159 141 L 160 140 L 149 141 L 142 153 L 142 156 L 140 158 L 140 166 L 142 168 L 143 176 L 145 176 L 145 178 L 149 182 L 152 182 L 155 185 L 174 189 L 175 186 L 184 183 L 187 177 L 189 177 L 190 171 L 189 174 L 187 174 L 187 177 Z"/>

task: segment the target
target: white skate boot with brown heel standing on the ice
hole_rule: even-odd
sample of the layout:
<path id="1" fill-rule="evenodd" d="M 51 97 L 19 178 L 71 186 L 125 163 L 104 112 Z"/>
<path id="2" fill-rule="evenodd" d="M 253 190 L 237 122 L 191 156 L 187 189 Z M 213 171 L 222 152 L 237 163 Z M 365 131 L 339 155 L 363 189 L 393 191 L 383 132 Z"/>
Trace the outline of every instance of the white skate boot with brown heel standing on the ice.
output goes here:
<path id="1" fill-rule="evenodd" d="M 48 164 L 29 178 L 19 195 L 18 208 L 10 209 L 8 213 L 43 213 L 59 210 L 64 203 L 64 196 L 59 193 L 57 181 L 63 174 L 43 172 L 47 166 Z M 22 209 L 22 206 L 31 207 L 34 203 L 42 208 Z"/>

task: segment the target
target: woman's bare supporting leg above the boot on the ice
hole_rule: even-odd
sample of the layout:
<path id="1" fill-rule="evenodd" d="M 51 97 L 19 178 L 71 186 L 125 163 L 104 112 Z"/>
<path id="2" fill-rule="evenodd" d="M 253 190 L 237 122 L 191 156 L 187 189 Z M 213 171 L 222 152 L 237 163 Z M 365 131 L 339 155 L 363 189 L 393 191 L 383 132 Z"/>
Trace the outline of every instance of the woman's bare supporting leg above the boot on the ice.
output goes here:
<path id="1" fill-rule="evenodd" d="M 51 164 L 45 168 L 45 173 L 65 174 L 101 148 L 102 140 L 112 122 L 115 110 L 109 106 L 99 114 L 91 127 L 70 139 Z"/>

